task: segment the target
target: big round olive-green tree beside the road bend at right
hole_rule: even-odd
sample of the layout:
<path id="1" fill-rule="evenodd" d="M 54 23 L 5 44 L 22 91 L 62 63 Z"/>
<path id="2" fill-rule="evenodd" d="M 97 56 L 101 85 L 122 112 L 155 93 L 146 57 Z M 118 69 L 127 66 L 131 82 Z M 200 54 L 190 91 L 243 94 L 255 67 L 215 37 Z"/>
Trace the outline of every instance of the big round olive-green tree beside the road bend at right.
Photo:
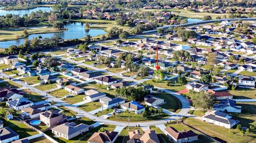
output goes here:
<path id="1" fill-rule="evenodd" d="M 210 110 L 213 106 L 213 96 L 210 92 L 199 92 L 195 95 L 193 106 L 203 111 Z"/>

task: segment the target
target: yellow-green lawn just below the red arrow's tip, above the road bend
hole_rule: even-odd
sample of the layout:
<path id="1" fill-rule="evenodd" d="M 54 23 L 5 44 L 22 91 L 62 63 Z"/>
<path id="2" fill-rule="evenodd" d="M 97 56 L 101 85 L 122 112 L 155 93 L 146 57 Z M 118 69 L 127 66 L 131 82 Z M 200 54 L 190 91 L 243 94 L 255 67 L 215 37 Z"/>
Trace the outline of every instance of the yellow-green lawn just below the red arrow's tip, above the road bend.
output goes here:
<path id="1" fill-rule="evenodd" d="M 153 79 L 150 79 L 147 82 L 151 83 L 152 85 L 154 85 L 156 87 L 161 87 L 161 88 L 169 89 L 169 90 L 172 90 L 172 91 L 179 91 L 179 90 L 185 89 L 185 87 L 179 85 L 179 83 L 176 83 L 176 85 L 174 85 L 174 83 L 172 83 L 171 86 L 167 86 L 166 85 L 166 82 L 167 82 L 166 80 L 161 81 L 161 82 L 153 82 Z"/>

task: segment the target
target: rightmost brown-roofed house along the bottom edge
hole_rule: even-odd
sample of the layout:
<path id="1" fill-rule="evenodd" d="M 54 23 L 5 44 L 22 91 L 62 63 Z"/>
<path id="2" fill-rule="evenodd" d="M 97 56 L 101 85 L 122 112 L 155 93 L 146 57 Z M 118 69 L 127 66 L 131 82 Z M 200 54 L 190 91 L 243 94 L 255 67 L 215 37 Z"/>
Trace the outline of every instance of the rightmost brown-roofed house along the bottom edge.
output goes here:
<path id="1" fill-rule="evenodd" d="M 173 142 L 182 143 L 198 140 L 198 134 L 192 130 L 179 132 L 173 127 L 166 127 L 164 130 L 167 137 Z"/>

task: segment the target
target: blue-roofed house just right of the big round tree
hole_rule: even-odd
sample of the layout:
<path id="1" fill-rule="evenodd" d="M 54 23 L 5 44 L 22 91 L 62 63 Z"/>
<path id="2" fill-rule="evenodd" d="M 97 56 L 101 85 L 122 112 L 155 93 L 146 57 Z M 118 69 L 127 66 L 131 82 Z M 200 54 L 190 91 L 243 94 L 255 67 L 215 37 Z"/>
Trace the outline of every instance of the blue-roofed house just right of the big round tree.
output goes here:
<path id="1" fill-rule="evenodd" d="M 241 113 L 242 107 L 236 106 L 236 101 L 231 98 L 220 100 L 220 104 L 214 104 L 213 110 L 221 112 Z"/>

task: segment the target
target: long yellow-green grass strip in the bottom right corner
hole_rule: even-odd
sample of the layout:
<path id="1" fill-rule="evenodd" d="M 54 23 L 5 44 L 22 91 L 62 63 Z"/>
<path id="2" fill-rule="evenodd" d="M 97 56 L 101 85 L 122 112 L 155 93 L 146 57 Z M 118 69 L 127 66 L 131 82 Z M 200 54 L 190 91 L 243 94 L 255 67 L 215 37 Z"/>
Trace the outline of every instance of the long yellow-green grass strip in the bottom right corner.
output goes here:
<path id="1" fill-rule="evenodd" d="M 254 133 L 247 133 L 242 136 L 237 129 L 228 129 L 220 127 L 219 125 L 209 124 L 197 119 L 188 118 L 185 123 L 191 127 L 208 134 L 211 137 L 218 137 L 227 142 L 255 142 Z"/>

